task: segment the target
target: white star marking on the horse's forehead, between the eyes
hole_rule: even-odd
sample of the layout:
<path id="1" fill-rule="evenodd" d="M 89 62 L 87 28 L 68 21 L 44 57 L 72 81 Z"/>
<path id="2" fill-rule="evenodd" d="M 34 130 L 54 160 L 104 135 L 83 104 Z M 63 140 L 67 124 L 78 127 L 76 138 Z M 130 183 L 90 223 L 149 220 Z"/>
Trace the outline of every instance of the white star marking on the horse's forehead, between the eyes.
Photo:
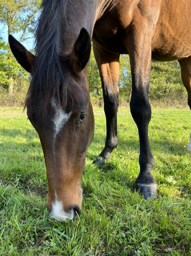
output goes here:
<path id="1" fill-rule="evenodd" d="M 66 113 L 61 107 L 56 105 L 56 102 L 54 100 L 53 102 L 53 108 L 55 110 L 55 114 L 52 118 L 52 121 L 54 123 L 54 135 L 53 140 L 55 141 L 57 134 L 61 131 L 62 126 L 66 124 L 66 122 L 69 120 L 72 111 L 70 113 Z"/>

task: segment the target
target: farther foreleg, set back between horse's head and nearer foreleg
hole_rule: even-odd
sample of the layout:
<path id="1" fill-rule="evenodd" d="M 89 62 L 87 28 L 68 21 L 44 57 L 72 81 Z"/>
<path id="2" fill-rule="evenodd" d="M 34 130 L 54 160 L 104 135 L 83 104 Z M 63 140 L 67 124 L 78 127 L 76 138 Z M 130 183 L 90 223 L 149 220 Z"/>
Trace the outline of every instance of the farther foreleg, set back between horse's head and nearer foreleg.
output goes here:
<path id="1" fill-rule="evenodd" d="M 119 55 L 112 54 L 93 43 L 93 52 L 100 72 L 104 112 L 106 117 L 105 147 L 99 154 L 96 163 L 101 165 L 117 147 L 117 109 L 119 92 Z"/>

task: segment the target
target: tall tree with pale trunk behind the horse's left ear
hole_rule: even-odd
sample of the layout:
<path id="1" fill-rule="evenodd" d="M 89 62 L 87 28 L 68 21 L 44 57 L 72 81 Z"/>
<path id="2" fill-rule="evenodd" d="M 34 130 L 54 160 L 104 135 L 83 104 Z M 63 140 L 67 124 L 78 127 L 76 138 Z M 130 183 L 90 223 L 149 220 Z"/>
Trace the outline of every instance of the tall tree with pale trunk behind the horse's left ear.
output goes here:
<path id="1" fill-rule="evenodd" d="M 8 35 L 20 32 L 19 42 L 34 37 L 32 33 L 39 12 L 40 0 L 0 0 L 0 6 L 0 22 L 5 27 L 8 26 Z M 9 47 L 7 48 L 7 60 L 7 85 L 9 92 L 12 93 L 15 59 Z"/>

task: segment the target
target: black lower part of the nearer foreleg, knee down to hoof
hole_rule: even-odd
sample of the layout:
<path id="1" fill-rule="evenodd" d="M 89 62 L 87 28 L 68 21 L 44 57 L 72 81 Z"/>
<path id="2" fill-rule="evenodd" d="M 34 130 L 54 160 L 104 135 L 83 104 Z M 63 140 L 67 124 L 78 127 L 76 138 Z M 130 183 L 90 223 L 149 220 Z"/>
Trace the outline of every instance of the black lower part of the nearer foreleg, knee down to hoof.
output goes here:
<path id="1" fill-rule="evenodd" d="M 151 106 L 148 98 L 131 97 L 130 110 L 132 117 L 137 124 L 140 142 L 140 173 L 135 181 L 135 189 L 144 195 L 144 198 L 156 195 L 157 183 L 152 175 L 152 168 L 155 160 L 151 153 L 148 140 L 148 124 L 151 120 Z"/>

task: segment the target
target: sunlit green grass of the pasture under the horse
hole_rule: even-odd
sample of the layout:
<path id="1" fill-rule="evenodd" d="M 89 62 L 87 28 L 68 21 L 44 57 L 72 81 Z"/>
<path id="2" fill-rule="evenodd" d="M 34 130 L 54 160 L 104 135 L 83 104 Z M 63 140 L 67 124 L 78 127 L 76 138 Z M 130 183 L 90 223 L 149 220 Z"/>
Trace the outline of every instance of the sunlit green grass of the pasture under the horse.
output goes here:
<path id="1" fill-rule="evenodd" d="M 103 109 L 94 109 L 95 135 L 81 180 L 82 212 L 62 224 L 48 216 L 43 151 L 21 113 L 21 108 L 0 108 L 1 255 L 191 255 L 189 110 L 153 109 L 149 141 L 158 194 L 145 201 L 133 189 L 139 138 L 130 110 L 119 109 L 118 147 L 99 167 L 93 160 L 104 147 L 105 116 Z"/>

